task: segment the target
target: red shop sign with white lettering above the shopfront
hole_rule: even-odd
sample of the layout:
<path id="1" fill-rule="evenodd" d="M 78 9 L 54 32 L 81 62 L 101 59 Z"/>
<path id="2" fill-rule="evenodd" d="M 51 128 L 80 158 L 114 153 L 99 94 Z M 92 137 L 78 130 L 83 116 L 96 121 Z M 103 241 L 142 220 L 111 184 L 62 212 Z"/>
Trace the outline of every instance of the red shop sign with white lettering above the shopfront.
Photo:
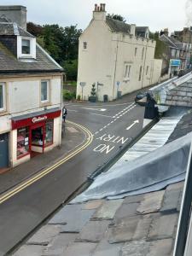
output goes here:
<path id="1" fill-rule="evenodd" d="M 20 127 L 26 127 L 26 126 L 38 124 L 38 123 L 44 123 L 47 119 L 55 119 L 60 115 L 61 115 L 61 110 L 57 110 L 52 113 L 44 113 L 44 114 L 33 116 L 27 119 L 19 119 L 19 120 L 12 119 L 11 120 L 12 130 L 18 129 Z"/>

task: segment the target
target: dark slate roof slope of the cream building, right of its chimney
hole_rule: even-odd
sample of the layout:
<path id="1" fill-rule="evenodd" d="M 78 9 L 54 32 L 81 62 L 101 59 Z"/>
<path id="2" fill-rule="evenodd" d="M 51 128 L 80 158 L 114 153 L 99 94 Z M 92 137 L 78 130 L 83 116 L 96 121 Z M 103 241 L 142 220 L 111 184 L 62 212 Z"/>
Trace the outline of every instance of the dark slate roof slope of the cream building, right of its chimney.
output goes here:
<path id="1" fill-rule="evenodd" d="M 112 32 L 123 32 L 125 34 L 130 34 L 131 26 L 123 21 L 113 20 L 109 17 L 106 17 L 106 23 Z"/>

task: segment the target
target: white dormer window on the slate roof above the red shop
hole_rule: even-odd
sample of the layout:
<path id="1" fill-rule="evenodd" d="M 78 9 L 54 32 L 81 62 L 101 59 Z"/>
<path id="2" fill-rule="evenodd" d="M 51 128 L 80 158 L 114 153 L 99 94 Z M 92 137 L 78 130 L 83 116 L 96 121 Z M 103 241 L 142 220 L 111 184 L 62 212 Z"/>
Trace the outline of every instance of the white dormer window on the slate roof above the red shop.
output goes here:
<path id="1" fill-rule="evenodd" d="M 36 59 L 36 38 L 17 36 L 17 58 L 21 61 Z"/>

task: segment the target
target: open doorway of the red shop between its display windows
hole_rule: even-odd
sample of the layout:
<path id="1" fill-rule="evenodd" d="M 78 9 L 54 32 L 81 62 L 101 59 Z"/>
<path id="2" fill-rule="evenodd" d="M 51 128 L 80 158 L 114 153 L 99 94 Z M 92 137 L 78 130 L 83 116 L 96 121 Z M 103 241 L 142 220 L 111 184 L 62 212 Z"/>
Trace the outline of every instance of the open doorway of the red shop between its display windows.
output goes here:
<path id="1" fill-rule="evenodd" d="M 31 127 L 31 157 L 44 153 L 44 125 Z"/>

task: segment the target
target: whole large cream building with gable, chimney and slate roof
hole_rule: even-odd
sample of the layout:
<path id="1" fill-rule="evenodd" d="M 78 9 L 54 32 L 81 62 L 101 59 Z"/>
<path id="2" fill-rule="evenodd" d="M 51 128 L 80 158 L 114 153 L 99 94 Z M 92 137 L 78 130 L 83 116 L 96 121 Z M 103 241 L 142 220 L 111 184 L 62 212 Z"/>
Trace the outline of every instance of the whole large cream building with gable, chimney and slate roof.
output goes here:
<path id="1" fill-rule="evenodd" d="M 79 38 L 77 97 L 88 100 L 92 84 L 99 101 L 105 95 L 113 101 L 157 83 L 162 61 L 154 59 L 156 43 L 148 35 L 147 26 L 113 20 L 105 4 L 95 4 L 93 18 Z"/>

